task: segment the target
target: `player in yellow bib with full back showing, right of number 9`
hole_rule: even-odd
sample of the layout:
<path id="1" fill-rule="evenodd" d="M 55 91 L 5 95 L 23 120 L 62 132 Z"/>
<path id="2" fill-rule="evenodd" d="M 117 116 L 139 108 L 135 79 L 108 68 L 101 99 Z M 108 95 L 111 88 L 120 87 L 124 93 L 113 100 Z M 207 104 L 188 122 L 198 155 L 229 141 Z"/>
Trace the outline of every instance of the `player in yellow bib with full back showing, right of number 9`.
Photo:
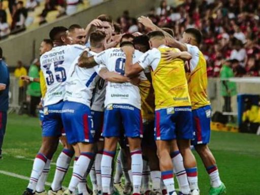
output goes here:
<path id="1" fill-rule="evenodd" d="M 186 171 L 194 176 L 188 178 L 189 181 L 198 180 L 196 159 L 190 150 L 191 103 L 182 60 L 190 59 L 191 55 L 167 47 L 165 36 L 161 31 L 150 32 L 149 38 L 150 47 L 153 49 L 144 53 L 137 63 L 132 63 L 133 49 L 122 48 L 126 54 L 125 75 L 132 77 L 147 67 L 152 69 L 152 84 L 155 92 L 155 139 L 161 177 L 168 194 L 176 194 L 170 156 L 170 152 L 174 149 L 174 139 L 177 139 Z M 165 60 L 162 53 L 168 50 L 175 52 L 178 58 L 172 61 Z M 199 189 L 196 190 L 199 193 Z"/>

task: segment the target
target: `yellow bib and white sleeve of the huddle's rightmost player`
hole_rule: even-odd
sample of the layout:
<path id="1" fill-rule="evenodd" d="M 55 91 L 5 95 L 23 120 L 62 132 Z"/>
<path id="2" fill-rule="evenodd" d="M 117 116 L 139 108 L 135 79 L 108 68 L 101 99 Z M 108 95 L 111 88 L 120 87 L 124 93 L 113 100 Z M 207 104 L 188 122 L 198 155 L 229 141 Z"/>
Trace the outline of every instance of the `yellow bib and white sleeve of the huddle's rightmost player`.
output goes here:
<path id="1" fill-rule="evenodd" d="M 190 72 L 186 74 L 192 109 L 210 105 L 207 95 L 207 62 L 197 46 L 187 44 L 188 52 L 192 55 L 189 60 Z"/>

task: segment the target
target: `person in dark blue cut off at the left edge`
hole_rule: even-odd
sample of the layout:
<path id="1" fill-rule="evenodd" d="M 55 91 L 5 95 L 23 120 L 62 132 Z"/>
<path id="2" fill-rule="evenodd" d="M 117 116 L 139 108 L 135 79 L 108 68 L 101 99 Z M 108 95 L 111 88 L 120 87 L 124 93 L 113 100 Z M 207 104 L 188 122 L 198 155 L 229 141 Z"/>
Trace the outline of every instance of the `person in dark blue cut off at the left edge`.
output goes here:
<path id="1" fill-rule="evenodd" d="M 3 50 L 0 47 L 0 159 L 2 158 L 2 145 L 6 132 L 8 92 L 9 92 L 9 71 L 7 64 L 2 60 Z"/>

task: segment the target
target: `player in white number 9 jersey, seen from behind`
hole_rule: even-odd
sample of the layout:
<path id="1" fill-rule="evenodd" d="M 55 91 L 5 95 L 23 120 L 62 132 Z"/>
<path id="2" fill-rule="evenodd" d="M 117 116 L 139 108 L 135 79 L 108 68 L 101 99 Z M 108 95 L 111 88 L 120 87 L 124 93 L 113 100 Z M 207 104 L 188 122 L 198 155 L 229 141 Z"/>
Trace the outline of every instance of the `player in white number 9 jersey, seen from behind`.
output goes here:
<path id="1" fill-rule="evenodd" d="M 121 44 L 133 47 L 131 42 L 123 42 Z M 137 61 L 141 54 L 140 51 L 135 50 L 134 62 Z M 109 71 L 115 71 L 124 75 L 124 56 L 120 48 L 111 48 L 94 57 L 81 56 L 79 66 L 89 68 L 103 63 Z M 111 164 L 122 125 L 131 151 L 133 194 L 140 194 L 143 161 L 140 139 L 142 136 L 142 118 L 139 88 L 129 82 L 122 84 L 108 82 L 105 108 L 103 127 L 105 147 L 101 162 L 103 194 L 111 193 L 109 189 L 112 172 Z"/>

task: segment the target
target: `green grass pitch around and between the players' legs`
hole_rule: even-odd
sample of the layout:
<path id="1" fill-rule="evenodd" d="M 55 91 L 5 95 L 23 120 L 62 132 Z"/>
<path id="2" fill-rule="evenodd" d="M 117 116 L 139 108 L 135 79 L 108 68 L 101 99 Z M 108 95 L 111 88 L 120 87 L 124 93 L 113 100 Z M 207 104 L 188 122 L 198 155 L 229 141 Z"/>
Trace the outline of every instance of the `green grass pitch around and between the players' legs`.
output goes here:
<path id="1" fill-rule="evenodd" d="M 7 132 L 0 160 L 0 194 L 22 194 L 28 181 L 7 176 L 1 171 L 30 176 L 33 159 L 41 146 L 41 128 L 37 118 L 8 116 Z M 230 195 L 260 194 L 260 137 L 249 134 L 212 132 L 210 148 L 216 157 L 222 181 Z M 52 163 L 61 150 L 59 146 Z M 23 158 L 21 158 L 23 157 Z M 202 161 L 196 154 L 201 194 L 208 194 L 209 178 Z M 51 166 L 48 182 L 53 179 L 55 165 Z M 63 182 L 68 186 L 72 169 Z M 46 186 L 48 189 L 49 186 Z"/>

